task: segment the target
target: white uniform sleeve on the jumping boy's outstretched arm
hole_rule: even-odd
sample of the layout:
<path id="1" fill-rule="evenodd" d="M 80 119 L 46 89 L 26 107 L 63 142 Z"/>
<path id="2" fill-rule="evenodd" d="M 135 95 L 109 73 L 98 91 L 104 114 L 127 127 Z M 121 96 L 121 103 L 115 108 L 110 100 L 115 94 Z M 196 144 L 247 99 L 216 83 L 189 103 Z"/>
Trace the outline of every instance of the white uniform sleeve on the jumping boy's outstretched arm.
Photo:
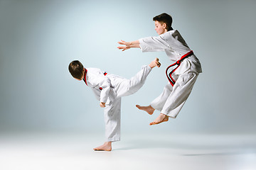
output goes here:
<path id="1" fill-rule="evenodd" d="M 142 52 L 156 52 L 169 49 L 169 43 L 164 39 L 164 36 L 147 37 L 139 39 L 139 46 Z"/>

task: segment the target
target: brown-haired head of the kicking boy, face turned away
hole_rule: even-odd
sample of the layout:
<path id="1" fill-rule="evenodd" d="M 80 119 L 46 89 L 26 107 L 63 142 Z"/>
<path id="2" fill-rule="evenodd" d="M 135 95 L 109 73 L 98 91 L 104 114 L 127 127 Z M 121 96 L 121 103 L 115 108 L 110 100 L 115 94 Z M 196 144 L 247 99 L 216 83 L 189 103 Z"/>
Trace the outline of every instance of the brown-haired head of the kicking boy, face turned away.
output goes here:
<path id="1" fill-rule="evenodd" d="M 78 60 L 70 62 L 68 70 L 75 79 L 82 80 L 85 68 L 83 67 L 81 62 L 79 62 Z"/>

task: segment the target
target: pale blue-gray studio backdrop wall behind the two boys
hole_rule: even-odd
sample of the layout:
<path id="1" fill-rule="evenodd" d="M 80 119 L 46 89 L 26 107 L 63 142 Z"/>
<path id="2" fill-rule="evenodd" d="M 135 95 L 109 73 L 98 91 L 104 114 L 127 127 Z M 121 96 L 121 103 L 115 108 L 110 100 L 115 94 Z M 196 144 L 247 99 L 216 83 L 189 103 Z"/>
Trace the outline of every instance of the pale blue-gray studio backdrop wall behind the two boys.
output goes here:
<path id="1" fill-rule="evenodd" d="M 80 60 L 130 78 L 159 57 L 143 88 L 122 99 L 122 132 L 255 133 L 256 1 L 0 0 L 0 131 L 104 133 L 103 109 L 68 72 Z M 157 35 L 152 18 L 174 18 L 203 73 L 178 117 L 149 126 L 148 105 L 167 83 L 164 52 L 117 50 Z"/>

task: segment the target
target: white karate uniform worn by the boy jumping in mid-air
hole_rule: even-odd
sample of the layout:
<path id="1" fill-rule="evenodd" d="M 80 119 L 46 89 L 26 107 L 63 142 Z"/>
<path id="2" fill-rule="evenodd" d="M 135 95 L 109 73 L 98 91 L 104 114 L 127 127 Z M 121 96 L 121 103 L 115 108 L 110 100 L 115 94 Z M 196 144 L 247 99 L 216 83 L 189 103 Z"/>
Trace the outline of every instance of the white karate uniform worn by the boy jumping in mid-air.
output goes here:
<path id="1" fill-rule="evenodd" d="M 157 37 L 142 38 L 139 39 L 139 43 L 142 52 L 164 51 L 169 59 L 174 62 L 191 51 L 178 30 L 170 30 Z M 151 107 L 171 118 L 176 118 L 189 94 L 191 94 L 193 85 L 201 72 L 201 64 L 198 58 L 195 55 L 186 57 L 172 74 L 176 81 L 174 86 L 168 83 L 160 96 L 150 103 Z"/>

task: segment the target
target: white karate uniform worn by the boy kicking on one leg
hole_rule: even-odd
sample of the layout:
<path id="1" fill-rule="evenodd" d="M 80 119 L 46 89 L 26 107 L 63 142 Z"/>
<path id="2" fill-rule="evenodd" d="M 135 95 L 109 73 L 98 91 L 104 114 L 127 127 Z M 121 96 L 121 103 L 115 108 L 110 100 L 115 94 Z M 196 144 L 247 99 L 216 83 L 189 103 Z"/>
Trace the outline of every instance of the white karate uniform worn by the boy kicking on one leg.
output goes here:
<path id="1" fill-rule="evenodd" d="M 85 84 L 90 86 L 97 100 L 106 103 L 104 110 L 106 141 L 118 141 L 120 140 L 121 97 L 138 91 L 151 72 L 151 67 L 143 66 L 131 79 L 124 79 L 114 74 L 105 75 L 97 68 L 86 70 Z"/>

